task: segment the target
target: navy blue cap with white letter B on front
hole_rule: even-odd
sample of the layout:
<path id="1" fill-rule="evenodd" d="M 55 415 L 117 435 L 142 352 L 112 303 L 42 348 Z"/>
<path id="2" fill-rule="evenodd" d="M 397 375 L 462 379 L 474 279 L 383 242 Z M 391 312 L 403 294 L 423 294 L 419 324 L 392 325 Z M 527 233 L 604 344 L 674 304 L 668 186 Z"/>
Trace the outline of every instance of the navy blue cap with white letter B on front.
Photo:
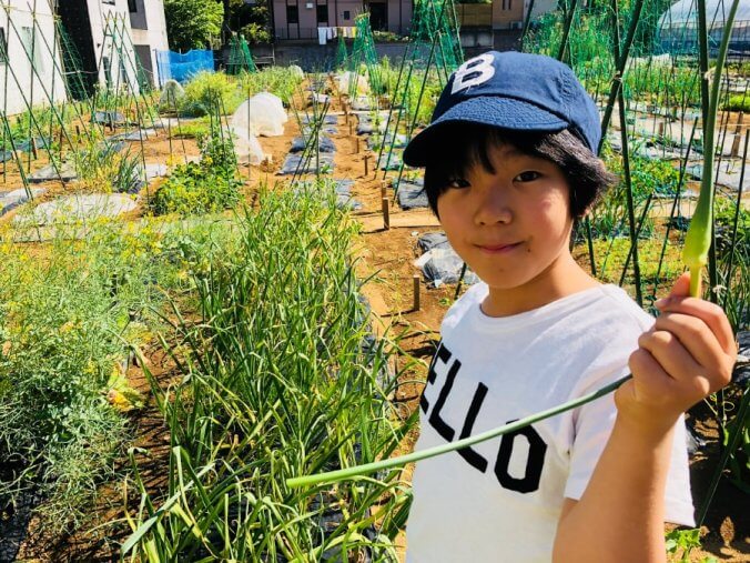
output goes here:
<path id="1" fill-rule="evenodd" d="M 599 112 L 576 74 L 543 54 L 489 51 L 450 76 L 433 119 L 404 150 L 404 162 L 424 167 L 429 140 L 444 123 L 480 123 L 514 131 L 569 129 L 596 153 Z"/>

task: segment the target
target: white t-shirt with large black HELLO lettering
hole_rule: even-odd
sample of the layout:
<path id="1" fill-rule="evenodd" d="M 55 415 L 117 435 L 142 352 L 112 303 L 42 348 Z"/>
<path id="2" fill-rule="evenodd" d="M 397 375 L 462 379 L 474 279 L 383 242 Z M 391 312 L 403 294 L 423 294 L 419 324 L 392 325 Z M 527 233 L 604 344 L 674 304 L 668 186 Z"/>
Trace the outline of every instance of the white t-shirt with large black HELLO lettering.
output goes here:
<path id="1" fill-rule="evenodd" d="M 474 285 L 443 321 L 416 450 L 485 432 L 626 375 L 638 336 L 653 324 L 614 285 L 505 318 L 482 312 L 487 292 L 486 284 Z M 582 495 L 615 415 L 610 394 L 516 434 L 417 463 L 407 561 L 550 561 L 562 501 Z M 666 516 L 695 525 L 682 420 Z"/>

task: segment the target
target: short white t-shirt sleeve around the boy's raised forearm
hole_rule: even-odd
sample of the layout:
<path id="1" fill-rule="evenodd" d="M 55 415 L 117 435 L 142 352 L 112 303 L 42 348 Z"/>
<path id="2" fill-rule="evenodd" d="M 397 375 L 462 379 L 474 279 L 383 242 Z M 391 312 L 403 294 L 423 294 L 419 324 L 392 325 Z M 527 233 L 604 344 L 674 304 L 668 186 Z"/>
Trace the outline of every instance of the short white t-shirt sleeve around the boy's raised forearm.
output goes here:
<path id="1" fill-rule="evenodd" d="M 599 379 L 584 393 L 616 381 L 628 373 L 627 368 Z M 597 399 L 574 411 L 574 438 L 570 450 L 570 473 L 565 496 L 579 500 L 594 473 L 597 461 L 611 434 L 617 415 L 612 394 Z M 680 416 L 675 426 L 669 474 L 665 492 L 665 520 L 675 524 L 695 525 L 690 474 L 688 469 L 687 434 L 685 419 Z"/>

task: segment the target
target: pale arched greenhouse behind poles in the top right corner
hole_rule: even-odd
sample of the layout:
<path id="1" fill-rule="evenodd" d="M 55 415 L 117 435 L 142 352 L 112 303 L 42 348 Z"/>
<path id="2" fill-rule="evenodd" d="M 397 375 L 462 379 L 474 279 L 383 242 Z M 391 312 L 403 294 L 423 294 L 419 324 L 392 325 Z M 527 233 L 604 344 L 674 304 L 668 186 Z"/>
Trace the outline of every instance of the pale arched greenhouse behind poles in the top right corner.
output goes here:
<path id="1" fill-rule="evenodd" d="M 731 2 L 708 0 L 706 13 L 709 27 L 709 49 L 716 57 L 729 16 Z M 662 53 L 697 56 L 698 8 L 696 0 L 675 2 L 659 19 L 658 49 Z M 750 0 L 740 0 L 729 42 L 729 58 L 741 59 L 750 54 Z"/>

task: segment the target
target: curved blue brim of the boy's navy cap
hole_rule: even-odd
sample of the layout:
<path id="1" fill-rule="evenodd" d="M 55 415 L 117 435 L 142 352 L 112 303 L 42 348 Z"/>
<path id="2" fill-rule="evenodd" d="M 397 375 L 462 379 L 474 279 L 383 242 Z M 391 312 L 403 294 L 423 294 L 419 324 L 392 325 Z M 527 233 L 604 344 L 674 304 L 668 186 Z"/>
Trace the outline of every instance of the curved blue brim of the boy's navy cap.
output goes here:
<path id="1" fill-rule="evenodd" d="M 569 123 L 533 103 L 513 98 L 477 97 L 464 100 L 433 121 L 404 149 L 404 163 L 424 167 L 433 138 L 447 123 L 478 123 L 514 131 L 561 131 Z"/>

